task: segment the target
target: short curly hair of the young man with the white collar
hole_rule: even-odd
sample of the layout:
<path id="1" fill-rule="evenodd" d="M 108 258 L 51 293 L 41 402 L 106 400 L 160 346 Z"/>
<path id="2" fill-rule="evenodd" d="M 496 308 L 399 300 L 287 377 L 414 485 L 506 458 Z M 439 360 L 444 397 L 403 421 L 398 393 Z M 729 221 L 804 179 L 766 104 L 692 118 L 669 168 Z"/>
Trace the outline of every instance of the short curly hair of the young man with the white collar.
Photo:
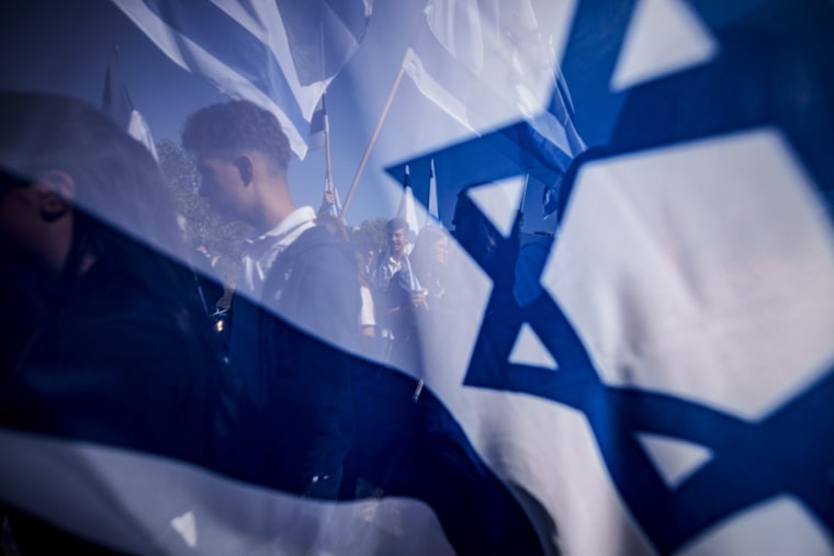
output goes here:
<path id="1" fill-rule="evenodd" d="M 290 141 L 271 112 L 249 101 L 214 104 L 192 114 L 182 129 L 182 146 L 192 154 L 243 150 L 264 155 L 277 170 L 290 163 Z"/>

